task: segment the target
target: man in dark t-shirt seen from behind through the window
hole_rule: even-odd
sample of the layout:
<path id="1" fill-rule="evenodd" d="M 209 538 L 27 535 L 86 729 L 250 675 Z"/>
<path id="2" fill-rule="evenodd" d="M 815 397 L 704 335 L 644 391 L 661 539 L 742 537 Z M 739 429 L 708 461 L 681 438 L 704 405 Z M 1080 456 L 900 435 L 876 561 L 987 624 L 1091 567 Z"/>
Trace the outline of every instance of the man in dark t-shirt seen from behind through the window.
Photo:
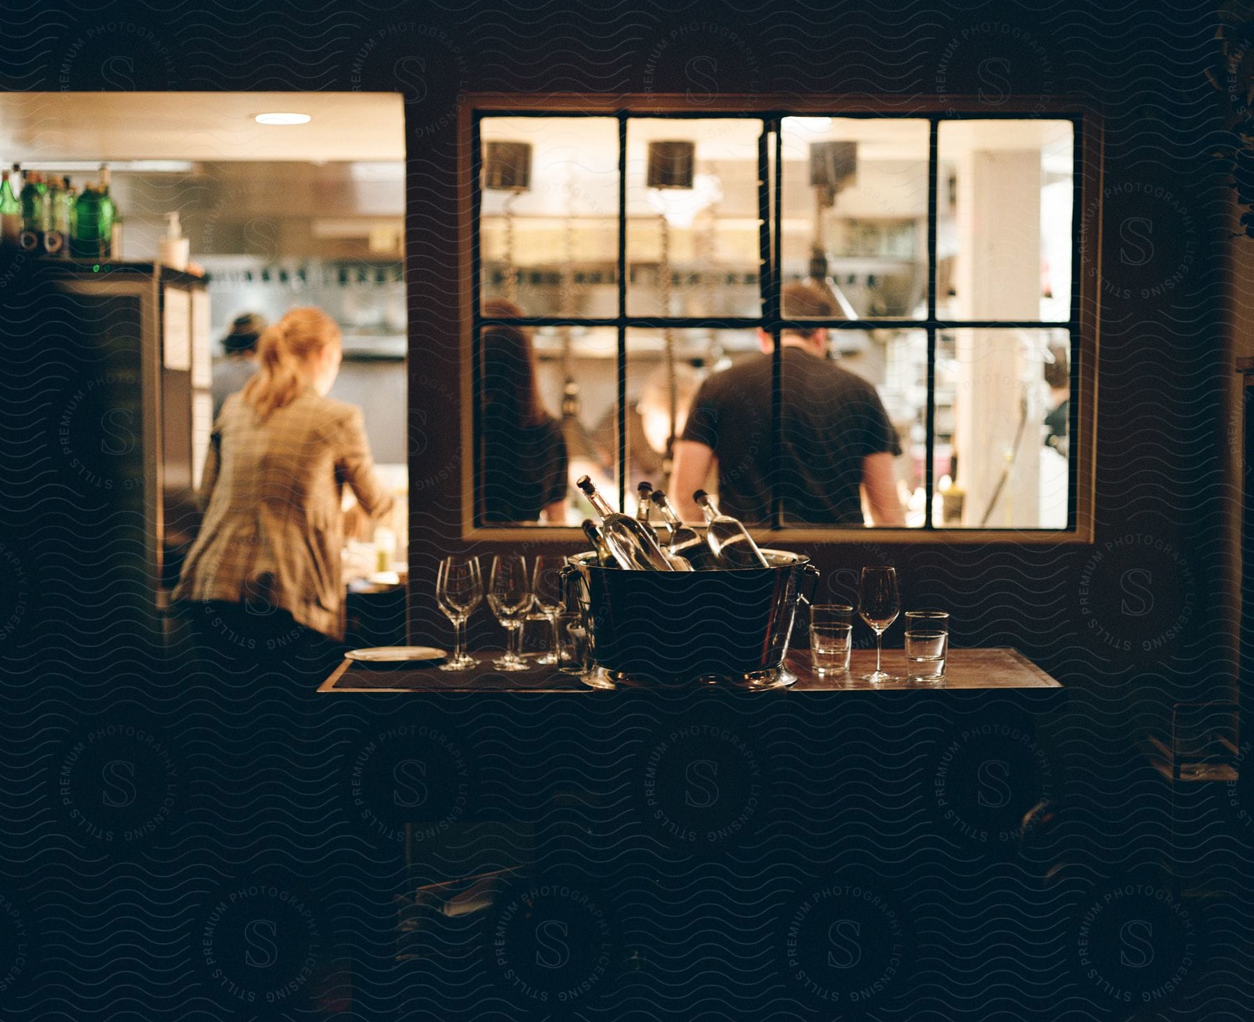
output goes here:
<path id="1" fill-rule="evenodd" d="M 835 318 L 836 306 L 813 283 L 782 289 L 786 317 Z M 762 353 L 702 383 L 675 448 L 671 482 L 680 514 L 700 520 L 692 491 L 719 463 L 724 514 L 749 524 L 771 519 L 771 337 L 759 332 Z M 903 525 L 893 458 L 897 431 L 875 388 L 828 361 L 828 332 L 780 336 L 782 435 L 777 486 L 788 520 L 815 525 L 864 525 L 860 487 L 873 525 Z"/>

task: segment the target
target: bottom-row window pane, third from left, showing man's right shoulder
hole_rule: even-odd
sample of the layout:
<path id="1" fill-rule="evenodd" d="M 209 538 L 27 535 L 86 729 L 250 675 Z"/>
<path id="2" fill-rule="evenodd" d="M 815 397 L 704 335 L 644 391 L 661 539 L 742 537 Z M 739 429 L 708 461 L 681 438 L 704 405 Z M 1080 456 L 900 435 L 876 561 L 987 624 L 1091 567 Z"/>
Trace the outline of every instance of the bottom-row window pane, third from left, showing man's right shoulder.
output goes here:
<path id="1" fill-rule="evenodd" d="M 922 527 L 927 332 L 828 331 L 828 358 L 784 339 L 784 524 Z"/>

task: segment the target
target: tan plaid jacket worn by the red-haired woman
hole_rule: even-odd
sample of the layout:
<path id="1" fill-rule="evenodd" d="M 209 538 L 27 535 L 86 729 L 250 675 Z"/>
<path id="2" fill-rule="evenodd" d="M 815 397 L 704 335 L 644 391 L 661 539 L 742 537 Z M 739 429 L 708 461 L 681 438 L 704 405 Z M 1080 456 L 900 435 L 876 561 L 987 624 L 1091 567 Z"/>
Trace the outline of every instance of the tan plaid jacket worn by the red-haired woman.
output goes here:
<path id="1" fill-rule="evenodd" d="M 258 614 L 278 607 L 342 639 L 345 483 L 371 517 L 390 510 L 359 408 L 308 387 L 258 422 L 232 395 L 204 465 L 204 524 L 173 597 L 242 602 Z"/>

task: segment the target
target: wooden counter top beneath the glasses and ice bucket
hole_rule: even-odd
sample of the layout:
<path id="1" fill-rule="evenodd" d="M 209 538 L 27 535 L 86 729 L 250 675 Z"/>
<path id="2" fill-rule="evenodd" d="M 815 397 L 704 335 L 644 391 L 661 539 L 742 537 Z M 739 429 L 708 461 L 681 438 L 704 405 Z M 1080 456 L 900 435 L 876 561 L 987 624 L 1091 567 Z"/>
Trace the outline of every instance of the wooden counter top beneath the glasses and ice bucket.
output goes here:
<path id="1" fill-rule="evenodd" d="M 573 675 L 552 668 L 503 674 L 492 666 L 495 650 L 472 654 L 482 660 L 479 670 L 441 671 L 434 666 L 370 665 L 351 660 L 340 664 L 320 686 L 320 693 L 593 693 L 606 691 L 584 685 Z M 534 655 L 528 659 L 534 660 Z M 949 651 L 944 683 L 940 685 L 909 685 L 904 680 L 875 689 L 858 675 L 875 666 L 875 650 L 854 650 L 850 673 L 819 676 L 810 670 L 809 650 L 789 654 L 788 664 L 796 674 L 789 689 L 770 691 L 873 691 L 888 689 L 1058 689 L 1061 684 L 1013 649 L 956 649 Z M 902 650 L 884 650 L 884 670 L 902 674 L 905 670 Z M 619 686 L 623 691 L 641 691 L 642 686 Z"/>

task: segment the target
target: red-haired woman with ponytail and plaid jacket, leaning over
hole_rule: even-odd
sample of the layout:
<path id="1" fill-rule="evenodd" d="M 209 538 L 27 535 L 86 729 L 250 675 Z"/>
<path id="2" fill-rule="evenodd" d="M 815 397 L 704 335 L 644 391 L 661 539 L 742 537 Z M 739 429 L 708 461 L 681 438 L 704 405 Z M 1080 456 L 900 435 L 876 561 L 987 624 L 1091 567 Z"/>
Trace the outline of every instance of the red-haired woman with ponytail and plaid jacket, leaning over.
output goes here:
<path id="1" fill-rule="evenodd" d="M 213 425 L 204 524 L 174 599 L 212 645 L 326 654 L 327 640 L 344 637 L 342 487 L 370 517 L 391 496 L 375 476 L 361 411 L 326 396 L 340 371 L 335 321 L 293 308 L 257 347 L 256 374 Z"/>

